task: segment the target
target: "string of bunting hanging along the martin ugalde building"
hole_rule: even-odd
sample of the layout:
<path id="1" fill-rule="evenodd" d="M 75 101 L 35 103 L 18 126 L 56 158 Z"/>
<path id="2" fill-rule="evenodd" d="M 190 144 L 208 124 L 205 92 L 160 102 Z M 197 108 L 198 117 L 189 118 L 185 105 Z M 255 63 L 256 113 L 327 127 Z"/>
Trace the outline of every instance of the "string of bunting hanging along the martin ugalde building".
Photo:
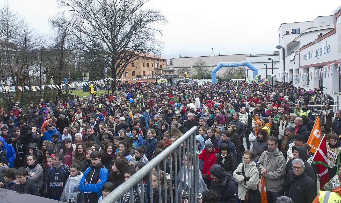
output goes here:
<path id="1" fill-rule="evenodd" d="M 340 68 L 340 63 L 341 60 L 335 62 L 337 63 L 337 73 L 338 75 L 341 75 L 341 68 Z M 318 76 L 318 80 L 321 80 L 323 77 L 324 78 L 332 78 L 333 77 L 333 70 L 334 70 L 334 64 L 329 64 L 327 66 L 324 66 L 320 69 L 308 72 L 308 73 L 301 73 L 301 74 L 292 74 L 288 72 L 283 72 L 283 77 L 286 77 L 290 80 L 295 79 L 296 82 L 306 82 L 306 81 L 312 81 L 313 75 L 314 79 L 316 80 L 316 77 Z"/>

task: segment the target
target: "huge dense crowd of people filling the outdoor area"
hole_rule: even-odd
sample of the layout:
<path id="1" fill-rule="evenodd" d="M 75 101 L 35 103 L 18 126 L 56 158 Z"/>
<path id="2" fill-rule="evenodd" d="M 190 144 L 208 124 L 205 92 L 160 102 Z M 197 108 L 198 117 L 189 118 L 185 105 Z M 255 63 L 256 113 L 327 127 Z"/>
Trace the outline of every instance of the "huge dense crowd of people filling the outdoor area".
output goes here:
<path id="1" fill-rule="evenodd" d="M 326 192 L 318 194 L 318 171 L 306 143 L 318 111 L 328 136 L 330 182 L 324 190 L 339 194 L 341 110 L 332 110 L 329 94 L 322 101 L 320 89 L 292 83 L 283 89 L 280 82 L 117 88 L 99 98 L 17 101 L 0 108 L 0 187 L 63 202 L 100 202 L 196 126 L 202 202 L 261 202 L 261 177 L 269 203 L 321 201 Z M 178 156 L 172 162 L 190 168 L 188 153 L 186 161 Z M 161 170 L 153 169 L 152 182 L 145 177 L 122 202 L 177 199 L 178 186 L 169 185 L 177 176 L 168 174 L 169 167 Z M 159 187 L 167 191 L 159 194 Z"/>

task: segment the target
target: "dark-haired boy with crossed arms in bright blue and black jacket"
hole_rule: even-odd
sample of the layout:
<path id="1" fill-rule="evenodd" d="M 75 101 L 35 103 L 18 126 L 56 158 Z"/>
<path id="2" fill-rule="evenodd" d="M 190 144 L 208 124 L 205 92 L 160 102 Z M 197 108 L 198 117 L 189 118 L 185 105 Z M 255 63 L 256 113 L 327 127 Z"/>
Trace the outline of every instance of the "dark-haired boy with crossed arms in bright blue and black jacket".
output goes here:
<path id="1" fill-rule="evenodd" d="M 102 186 L 107 182 L 108 170 L 101 163 L 101 153 L 93 151 L 90 154 L 91 165 L 84 172 L 79 183 L 79 190 L 84 192 L 84 202 L 97 203 L 102 196 Z"/>

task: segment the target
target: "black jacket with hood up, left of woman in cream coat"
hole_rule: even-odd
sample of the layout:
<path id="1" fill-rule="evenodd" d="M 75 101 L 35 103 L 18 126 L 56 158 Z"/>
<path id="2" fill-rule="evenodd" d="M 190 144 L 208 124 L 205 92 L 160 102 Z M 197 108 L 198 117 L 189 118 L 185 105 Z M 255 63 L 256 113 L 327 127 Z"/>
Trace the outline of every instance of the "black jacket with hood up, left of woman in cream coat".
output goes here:
<path id="1" fill-rule="evenodd" d="M 237 203 L 238 202 L 238 186 L 233 175 L 226 172 L 223 167 L 218 164 L 213 164 L 210 168 L 211 175 L 216 176 L 219 179 L 219 183 L 216 181 L 211 182 L 211 190 L 217 192 L 220 195 L 219 202 Z"/>

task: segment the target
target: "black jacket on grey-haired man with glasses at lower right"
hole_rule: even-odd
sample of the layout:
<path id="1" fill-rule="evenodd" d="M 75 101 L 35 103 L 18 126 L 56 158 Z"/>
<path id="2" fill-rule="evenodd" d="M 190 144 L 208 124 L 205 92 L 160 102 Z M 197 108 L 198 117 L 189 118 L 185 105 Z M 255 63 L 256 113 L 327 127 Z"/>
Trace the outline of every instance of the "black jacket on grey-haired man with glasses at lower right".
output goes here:
<path id="1" fill-rule="evenodd" d="M 304 171 L 297 177 L 291 170 L 284 180 L 284 195 L 294 202 L 311 203 L 317 195 L 316 184 Z"/>

